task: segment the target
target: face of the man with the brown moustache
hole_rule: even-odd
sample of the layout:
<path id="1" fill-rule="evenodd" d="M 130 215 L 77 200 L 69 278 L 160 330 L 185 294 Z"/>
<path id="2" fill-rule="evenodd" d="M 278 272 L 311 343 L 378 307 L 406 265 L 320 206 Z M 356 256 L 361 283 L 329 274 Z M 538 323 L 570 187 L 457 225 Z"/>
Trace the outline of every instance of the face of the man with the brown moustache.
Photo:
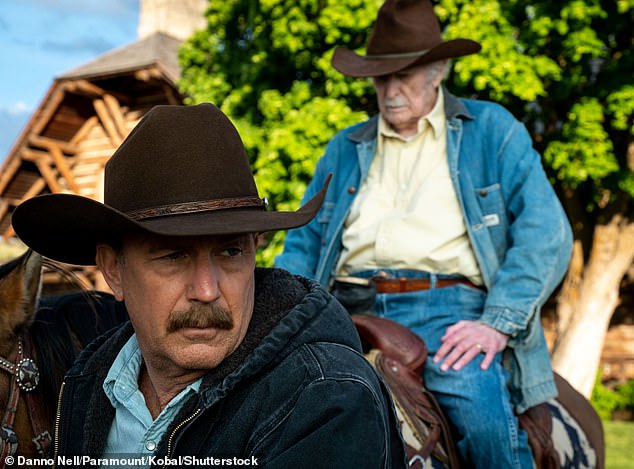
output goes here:
<path id="1" fill-rule="evenodd" d="M 98 246 L 97 263 L 125 301 L 148 367 L 167 375 L 208 370 L 244 339 L 255 235 L 133 235 L 121 252 Z"/>

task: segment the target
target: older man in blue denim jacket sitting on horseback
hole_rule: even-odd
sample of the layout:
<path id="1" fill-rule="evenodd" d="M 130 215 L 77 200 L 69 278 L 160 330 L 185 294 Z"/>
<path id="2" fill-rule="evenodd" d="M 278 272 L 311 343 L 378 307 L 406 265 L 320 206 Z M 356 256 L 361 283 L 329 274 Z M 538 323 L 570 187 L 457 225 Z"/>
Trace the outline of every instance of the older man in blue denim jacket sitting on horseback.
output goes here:
<path id="1" fill-rule="evenodd" d="M 539 313 L 571 230 L 524 126 L 441 86 L 449 59 L 479 50 L 443 41 L 428 0 L 387 0 L 366 55 L 335 50 L 337 70 L 372 78 L 380 114 L 329 143 L 305 195 L 333 173 L 324 204 L 276 265 L 426 341 L 466 467 L 528 468 L 514 411 L 556 395 Z"/>

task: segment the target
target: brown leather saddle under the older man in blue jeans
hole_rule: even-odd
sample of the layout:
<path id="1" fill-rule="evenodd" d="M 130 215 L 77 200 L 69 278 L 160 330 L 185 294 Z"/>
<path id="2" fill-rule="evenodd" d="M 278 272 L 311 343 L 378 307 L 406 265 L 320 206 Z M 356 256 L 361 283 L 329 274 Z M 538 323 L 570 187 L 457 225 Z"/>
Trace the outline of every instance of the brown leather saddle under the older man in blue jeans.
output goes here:
<path id="1" fill-rule="evenodd" d="M 401 421 L 410 468 L 460 467 L 451 431 L 434 395 L 422 379 L 427 360 L 423 340 L 405 326 L 377 316 L 352 315 L 366 358 L 383 378 Z M 546 404 L 518 416 L 527 432 L 538 469 L 560 467 L 551 438 L 552 417 Z"/>

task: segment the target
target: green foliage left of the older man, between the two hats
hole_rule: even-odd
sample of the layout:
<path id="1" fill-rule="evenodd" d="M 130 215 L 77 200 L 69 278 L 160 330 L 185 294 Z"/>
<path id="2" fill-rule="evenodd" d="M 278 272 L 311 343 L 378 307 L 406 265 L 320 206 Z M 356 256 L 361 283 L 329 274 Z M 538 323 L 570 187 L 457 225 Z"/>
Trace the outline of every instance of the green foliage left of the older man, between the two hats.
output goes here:
<path id="1" fill-rule="evenodd" d="M 371 83 L 346 79 L 330 57 L 336 45 L 365 45 L 380 4 L 211 1 L 208 29 L 181 49 L 190 102 L 213 102 L 233 120 L 271 208 L 296 210 L 328 140 L 375 112 Z M 260 263 L 273 262 L 283 238 L 273 234 Z"/>

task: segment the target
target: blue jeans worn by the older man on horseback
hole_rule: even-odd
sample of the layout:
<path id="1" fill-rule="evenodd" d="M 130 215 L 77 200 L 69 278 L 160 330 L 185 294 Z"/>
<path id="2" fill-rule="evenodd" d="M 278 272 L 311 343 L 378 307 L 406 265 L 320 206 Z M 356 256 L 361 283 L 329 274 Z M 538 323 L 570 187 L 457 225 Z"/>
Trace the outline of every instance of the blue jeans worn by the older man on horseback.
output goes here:
<path id="1" fill-rule="evenodd" d="M 376 313 L 413 330 L 425 340 L 429 358 L 424 371 L 427 388 L 452 425 L 454 441 L 464 467 L 532 468 L 526 433 L 519 428 L 506 387 L 508 374 L 499 353 L 488 370 L 480 369 L 484 355 L 460 371 L 440 370 L 433 356 L 447 327 L 482 314 L 486 293 L 467 285 L 434 288 L 447 275 L 409 270 L 381 270 L 390 277 L 428 277 L 432 288 L 410 293 L 379 293 Z M 370 277 L 376 271 L 354 274 Z"/>

